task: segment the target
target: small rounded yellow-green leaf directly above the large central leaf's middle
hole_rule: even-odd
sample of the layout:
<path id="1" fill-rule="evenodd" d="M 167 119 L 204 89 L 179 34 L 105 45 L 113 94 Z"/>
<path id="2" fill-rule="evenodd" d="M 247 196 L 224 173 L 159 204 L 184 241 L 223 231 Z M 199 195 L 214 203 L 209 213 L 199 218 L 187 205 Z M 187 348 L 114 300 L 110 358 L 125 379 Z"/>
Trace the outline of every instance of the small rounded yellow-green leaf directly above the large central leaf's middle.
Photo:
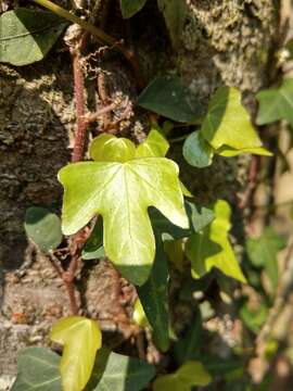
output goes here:
<path id="1" fill-rule="evenodd" d="M 90 143 L 90 157 L 97 162 L 127 162 L 135 157 L 136 146 L 126 138 L 102 134 Z"/>

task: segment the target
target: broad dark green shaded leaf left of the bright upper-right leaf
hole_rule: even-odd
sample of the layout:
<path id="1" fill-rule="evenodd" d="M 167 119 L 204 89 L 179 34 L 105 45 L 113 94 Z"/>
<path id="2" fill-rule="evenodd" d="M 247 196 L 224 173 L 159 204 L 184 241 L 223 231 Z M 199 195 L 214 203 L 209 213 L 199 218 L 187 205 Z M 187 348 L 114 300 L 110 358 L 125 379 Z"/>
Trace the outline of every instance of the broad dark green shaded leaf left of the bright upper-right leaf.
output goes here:
<path id="1" fill-rule="evenodd" d="M 176 76 L 153 79 L 139 96 L 138 105 L 182 123 L 192 123 L 202 114 L 200 104 L 191 104 L 188 89 Z"/>

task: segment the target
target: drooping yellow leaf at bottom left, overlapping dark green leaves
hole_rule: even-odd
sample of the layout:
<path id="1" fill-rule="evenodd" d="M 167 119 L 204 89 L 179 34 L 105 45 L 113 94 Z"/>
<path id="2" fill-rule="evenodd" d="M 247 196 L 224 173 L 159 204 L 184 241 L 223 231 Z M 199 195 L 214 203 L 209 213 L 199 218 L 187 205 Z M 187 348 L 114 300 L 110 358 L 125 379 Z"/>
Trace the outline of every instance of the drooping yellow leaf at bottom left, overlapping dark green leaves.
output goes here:
<path id="1" fill-rule="evenodd" d="M 64 390 L 82 390 L 90 378 L 95 353 L 102 344 L 98 324 L 82 316 L 69 316 L 53 326 L 50 338 L 64 345 L 60 362 Z"/>

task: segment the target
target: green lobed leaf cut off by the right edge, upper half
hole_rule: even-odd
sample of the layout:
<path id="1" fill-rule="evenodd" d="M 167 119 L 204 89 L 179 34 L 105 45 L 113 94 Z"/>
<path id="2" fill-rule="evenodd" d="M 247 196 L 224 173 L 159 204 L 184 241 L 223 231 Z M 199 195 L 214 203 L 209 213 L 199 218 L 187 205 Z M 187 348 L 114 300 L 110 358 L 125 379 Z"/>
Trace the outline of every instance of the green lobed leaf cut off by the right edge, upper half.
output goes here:
<path id="1" fill-rule="evenodd" d="M 256 94 L 259 109 L 257 125 L 286 119 L 293 126 L 293 79 L 284 79 L 279 88 L 263 90 Z"/>

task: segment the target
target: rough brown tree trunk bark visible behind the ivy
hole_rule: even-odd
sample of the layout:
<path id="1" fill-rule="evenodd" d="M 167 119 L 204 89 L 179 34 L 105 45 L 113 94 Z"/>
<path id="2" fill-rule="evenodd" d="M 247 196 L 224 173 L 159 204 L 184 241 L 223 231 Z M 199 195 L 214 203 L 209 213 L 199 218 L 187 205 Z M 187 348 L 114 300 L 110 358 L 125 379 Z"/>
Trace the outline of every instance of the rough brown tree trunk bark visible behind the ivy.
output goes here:
<path id="1" fill-rule="evenodd" d="M 132 22 L 135 46 L 148 76 L 178 70 L 204 104 L 221 84 L 254 92 L 267 83 L 278 30 L 275 0 L 189 1 L 188 23 L 176 51 L 168 43 L 162 17 L 153 15 L 154 7 L 154 1 L 150 1 Z M 150 15 L 157 20 L 157 34 L 153 31 Z M 145 23 L 148 20 L 150 23 Z M 140 23 L 143 30 L 138 28 Z M 110 75 L 112 97 L 122 100 L 127 94 L 133 97 L 129 68 L 117 56 L 99 66 Z M 88 80 L 88 85 L 91 83 Z M 253 109 L 253 101 L 247 102 Z M 120 126 L 122 131 L 137 140 L 145 133 L 145 121 L 139 118 L 140 115 L 131 119 L 132 127 L 129 122 Z M 17 351 L 47 343 L 50 325 L 68 314 L 67 297 L 50 262 L 34 249 L 27 249 L 23 219 L 25 209 L 31 205 L 60 207 L 62 189 L 56 173 L 68 161 L 74 123 L 68 55 L 55 50 L 40 64 L 22 68 L 0 65 L 0 263 L 5 268 L 0 375 L 15 374 Z M 174 154 L 182 163 L 179 147 Z M 215 198 L 234 201 L 234 193 L 243 186 L 246 163 L 240 166 L 235 159 L 220 159 L 211 168 L 201 171 L 182 164 L 183 180 L 199 202 Z M 33 265 L 23 265 L 22 272 L 14 273 L 24 261 Z M 115 305 L 119 304 L 113 304 L 117 297 L 110 273 L 107 266 L 93 263 L 88 270 L 88 282 L 82 276 L 79 282 L 88 313 L 102 318 L 111 315 L 113 319 Z M 112 321 L 102 327 L 115 329 L 116 326 Z M 4 386 L 0 384 L 2 389 Z"/>

